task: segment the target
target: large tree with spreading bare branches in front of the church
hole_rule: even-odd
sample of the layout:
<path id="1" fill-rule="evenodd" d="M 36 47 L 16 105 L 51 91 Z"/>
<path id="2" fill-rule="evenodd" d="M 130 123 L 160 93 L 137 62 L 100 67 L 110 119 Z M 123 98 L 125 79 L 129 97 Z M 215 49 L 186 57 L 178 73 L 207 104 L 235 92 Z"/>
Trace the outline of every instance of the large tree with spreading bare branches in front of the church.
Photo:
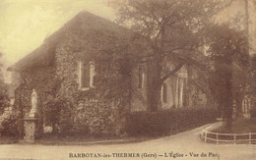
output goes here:
<path id="1" fill-rule="evenodd" d="M 138 63 L 147 63 L 152 70 L 148 83 L 151 111 L 160 105 L 160 88 L 164 80 L 185 65 L 200 65 L 193 57 L 200 46 L 200 34 L 205 24 L 228 4 L 209 0 L 122 0 L 114 1 L 118 8 L 117 23 L 143 35 L 151 49 Z M 199 36 L 200 35 L 200 36 Z M 164 64 L 174 64 L 173 70 Z"/>

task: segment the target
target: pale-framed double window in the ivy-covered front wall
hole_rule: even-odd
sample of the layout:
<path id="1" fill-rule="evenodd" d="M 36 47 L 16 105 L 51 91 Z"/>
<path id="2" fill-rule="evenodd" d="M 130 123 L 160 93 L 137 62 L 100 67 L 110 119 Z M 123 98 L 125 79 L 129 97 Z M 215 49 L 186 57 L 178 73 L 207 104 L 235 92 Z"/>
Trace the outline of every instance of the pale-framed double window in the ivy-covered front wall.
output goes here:
<path id="1" fill-rule="evenodd" d="M 79 86 L 81 89 L 94 87 L 95 63 L 79 63 Z"/>

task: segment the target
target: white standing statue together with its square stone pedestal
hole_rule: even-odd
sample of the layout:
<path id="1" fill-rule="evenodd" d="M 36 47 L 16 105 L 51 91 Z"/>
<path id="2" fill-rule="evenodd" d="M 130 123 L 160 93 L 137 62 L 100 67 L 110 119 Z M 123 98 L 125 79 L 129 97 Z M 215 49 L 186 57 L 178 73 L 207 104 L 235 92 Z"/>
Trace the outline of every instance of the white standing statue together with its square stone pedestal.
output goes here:
<path id="1" fill-rule="evenodd" d="M 35 90 L 32 90 L 32 109 L 29 114 L 29 117 L 24 119 L 24 130 L 25 136 L 23 142 L 34 143 L 34 138 L 37 132 L 37 93 Z"/>

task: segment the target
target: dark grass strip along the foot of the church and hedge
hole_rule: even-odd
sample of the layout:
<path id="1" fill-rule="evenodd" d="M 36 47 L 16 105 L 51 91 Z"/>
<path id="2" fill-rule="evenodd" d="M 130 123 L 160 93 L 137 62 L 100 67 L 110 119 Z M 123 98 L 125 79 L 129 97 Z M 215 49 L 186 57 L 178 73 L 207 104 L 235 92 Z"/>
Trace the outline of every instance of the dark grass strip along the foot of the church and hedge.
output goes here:
<path id="1" fill-rule="evenodd" d="M 182 128 L 170 134 L 182 133 L 196 127 Z M 41 137 L 35 138 L 35 143 L 45 145 L 91 145 L 91 144 L 119 144 L 141 142 L 149 139 L 159 138 L 165 135 L 94 135 L 90 133 L 43 133 Z M 17 136 L 0 136 L 0 144 L 18 143 L 23 140 Z"/>

